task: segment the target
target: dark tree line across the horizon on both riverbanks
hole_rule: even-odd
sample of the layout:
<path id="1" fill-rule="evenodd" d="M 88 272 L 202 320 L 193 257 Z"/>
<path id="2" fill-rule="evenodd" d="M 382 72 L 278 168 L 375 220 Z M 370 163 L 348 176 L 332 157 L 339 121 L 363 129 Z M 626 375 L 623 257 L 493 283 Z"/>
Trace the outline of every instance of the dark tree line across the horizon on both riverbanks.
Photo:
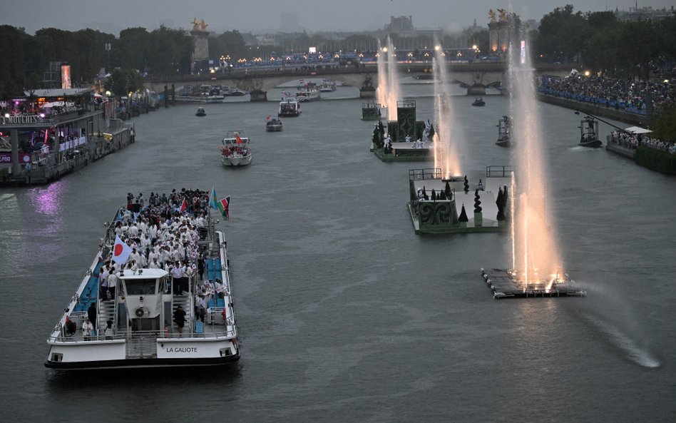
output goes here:
<path id="1" fill-rule="evenodd" d="M 511 15 L 514 26 L 518 16 Z M 662 21 L 618 21 L 613 12 L 583 13 L 573 6 L 558 7 L 543 16 L 537 30 L 531 31 L 536 61 L 580 63 L 595 73 L 614 77 L 641 76 L 650 71 L 672 68 L 676 58 L 676 17 Z M 316 46 L 320 51 L 369 49 L 378 45 L 377 38 L 368 34 L 353 34 L 346 39 L 330 40 L 319 34 L 285 34 L 277 46 L 247 46 L 238 31 L 226 31 L 210 36 L 209 56 L 212 59 L 228 56 L 237 58 L 270 56 L 290 50 L 301 51 Z M 435 43 L 431 36 L 415 39 L 393 36 L 396 46 L 429 46 Z M 463 34 L 444 36 L 441 45 L 478 46 L 488 53 L 488 30 L 466 30 Z M 466 45 L 465 45 L 466 44 Z M 109 46 L 110 49 L 106 47 Z M 71 65 L 74 86 L 86 86 L 101 68 L 113 73 L 114 92 L 125 92 L 140 83 L 139 76 L 176 75 L 190 73 L 193 41 L 183 29 L 129 28 L 120 36 L 93 29 L 63 31 L 46 28 L 35 35 L 23 28 L 0 26 L 0 51 L 4 66 L 0 66 L 0 98 L 23 93 L 24 88 L 41 86 L 43 73 L 49 62 L 61 61 Z M 307 51 L 307 50 L 306 50 Z M 482 53 L 483 54 L 483 53 Z M 201 67 L 198 67 L 200 70 Z"/>

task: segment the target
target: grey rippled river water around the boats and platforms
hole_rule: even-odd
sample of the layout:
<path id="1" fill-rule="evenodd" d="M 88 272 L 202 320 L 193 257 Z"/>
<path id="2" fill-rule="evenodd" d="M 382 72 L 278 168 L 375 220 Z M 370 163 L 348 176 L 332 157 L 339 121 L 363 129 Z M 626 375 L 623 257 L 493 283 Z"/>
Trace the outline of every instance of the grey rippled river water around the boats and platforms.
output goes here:
<path id="1" fill-rule="evenodd" d="M 419 119 L 431 84 L 405 85 Z M 542 103 L 561 255 L 588 297 L 493 300 L 506 234 L 415 235 L 408 170 L 369 153 L 356 88 L 265 133 L 277 103 L 174 106 L 135 118 L 137 143 L 51 185 L 0 191 L 0 407 L 13 421 L 673 422 L 675 179 L 578 148 L 580 116 Z M 461 93 L 461 91 L 459 91 Z M 269 93 L 269 98 L 276 98 Z M 325 96 L 326 97 L 326 96 Z M 508 99 L 454 96 L 464 173 L 511 164 Z M 518 123 L 517 123 L 518 124 Z M 247 168 L 220 165 L 226 130 Z M 609 126 L 602 124 L 602 133 Z M 518 142 L 518 141 L 517 141 Z M 126 193 L 215 185 L 242 358 L 211 369 L 63 374 L 46 337 Z"/>

